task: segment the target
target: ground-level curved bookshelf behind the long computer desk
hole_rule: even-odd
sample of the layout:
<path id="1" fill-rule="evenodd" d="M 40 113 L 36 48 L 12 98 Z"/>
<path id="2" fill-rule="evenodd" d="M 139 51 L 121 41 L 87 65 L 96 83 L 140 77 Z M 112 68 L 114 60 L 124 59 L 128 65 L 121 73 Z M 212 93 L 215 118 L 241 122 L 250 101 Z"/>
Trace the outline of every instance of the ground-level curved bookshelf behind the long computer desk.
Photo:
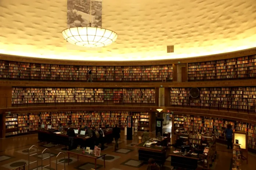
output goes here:
<path id="1" fill-rule="evenodd" d="M 109 124 L 114 127 L 124 128 L 127 125 L 127 116 L 132 116 L 134 122 L 138 119 L 138 130 L 149 128 L 150 115 L 148 112 L 129 111 L 62 111 L 62 112 L 38 112 L 6 115 L 6 137 L 15 134 L 26 134 L 38 130 L 41 125 L 52 125 L 58 128 L 68 128 L 71 124 L 76 128 L 105 127 Z M 10 129 L 10 130 L 9 130 Z"/>

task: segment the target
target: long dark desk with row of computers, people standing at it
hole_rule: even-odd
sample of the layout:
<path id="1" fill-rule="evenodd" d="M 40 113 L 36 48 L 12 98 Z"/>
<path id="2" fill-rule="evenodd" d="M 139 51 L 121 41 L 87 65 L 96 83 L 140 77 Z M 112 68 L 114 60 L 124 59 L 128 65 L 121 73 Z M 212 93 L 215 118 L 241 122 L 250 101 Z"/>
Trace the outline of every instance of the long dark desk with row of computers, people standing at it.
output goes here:
<path id="1" fill-rule="evenodd" d="M 68 136 L 66 133 L 56 134 L 47 130 L 38 130 L 38 140 L 56 143 L 60 145 L 68 146 Z M 104 143 L 111 143 L 113 141 L 112 130 L 104 131 Z M 93 143 L 92 138 L 75 137 L 75 145 L 81 145 L 81 147 L 88 147 Z"/>

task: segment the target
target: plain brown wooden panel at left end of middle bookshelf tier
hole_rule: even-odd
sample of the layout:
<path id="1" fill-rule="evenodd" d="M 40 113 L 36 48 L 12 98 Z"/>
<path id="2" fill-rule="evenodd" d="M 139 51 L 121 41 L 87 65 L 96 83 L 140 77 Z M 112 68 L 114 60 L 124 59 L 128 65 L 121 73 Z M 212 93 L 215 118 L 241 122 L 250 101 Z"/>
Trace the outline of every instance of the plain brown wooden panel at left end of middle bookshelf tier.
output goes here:
<path id="1" fill-rule="evenodd" d="M 11 107 L 11 86 L 0 86 L 0 108 Z"/>

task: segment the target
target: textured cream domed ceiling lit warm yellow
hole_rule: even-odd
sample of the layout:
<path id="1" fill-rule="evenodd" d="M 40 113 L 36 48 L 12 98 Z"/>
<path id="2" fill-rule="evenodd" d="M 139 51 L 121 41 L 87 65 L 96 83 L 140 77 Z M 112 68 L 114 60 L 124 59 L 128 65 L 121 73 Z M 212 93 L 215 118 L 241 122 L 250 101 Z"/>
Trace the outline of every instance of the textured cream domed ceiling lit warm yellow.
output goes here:
<path id="1" fill-rule="evenodd" d="M 103 0 L 101 51 L 68 50 L 66 0 L 0 0 L 0 53 L 68 60 L 157 60 L 256 47 L 255 0 Z M 167 53 L 166 45 L 174 45 Z"/>

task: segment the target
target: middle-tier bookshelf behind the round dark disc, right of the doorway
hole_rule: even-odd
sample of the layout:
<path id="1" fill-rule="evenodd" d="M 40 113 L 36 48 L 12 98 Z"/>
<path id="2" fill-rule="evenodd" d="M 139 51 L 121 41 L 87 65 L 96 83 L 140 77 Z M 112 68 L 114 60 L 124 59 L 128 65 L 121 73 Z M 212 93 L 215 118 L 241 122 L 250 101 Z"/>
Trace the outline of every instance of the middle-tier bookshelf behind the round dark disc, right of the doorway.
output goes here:
<path id="1" fill-rule="evenodd" d="M 171 88 L 170 105 L 256 112 L 256 87 L 199 88 L 200 96 L 192 99 L 190 88 Z"/>

